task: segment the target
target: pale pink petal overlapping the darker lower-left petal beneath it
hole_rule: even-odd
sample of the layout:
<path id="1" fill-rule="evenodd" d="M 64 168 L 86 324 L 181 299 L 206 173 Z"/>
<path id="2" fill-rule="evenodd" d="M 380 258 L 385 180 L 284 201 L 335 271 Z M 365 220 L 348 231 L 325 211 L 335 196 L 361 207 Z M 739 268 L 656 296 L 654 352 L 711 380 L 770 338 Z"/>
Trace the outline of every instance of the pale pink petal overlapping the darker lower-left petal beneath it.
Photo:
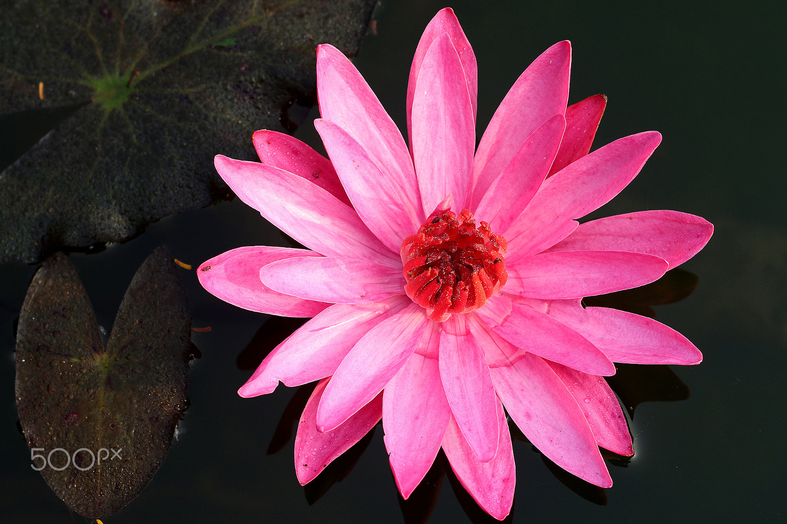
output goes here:
<path id="1" fill-rule="evenodd" d="M 382 391 L 412 356 L 429 322 L 425 310 L 411 302 L 364 334 L 325 389 L 317 429 L 332 430 Z"/>

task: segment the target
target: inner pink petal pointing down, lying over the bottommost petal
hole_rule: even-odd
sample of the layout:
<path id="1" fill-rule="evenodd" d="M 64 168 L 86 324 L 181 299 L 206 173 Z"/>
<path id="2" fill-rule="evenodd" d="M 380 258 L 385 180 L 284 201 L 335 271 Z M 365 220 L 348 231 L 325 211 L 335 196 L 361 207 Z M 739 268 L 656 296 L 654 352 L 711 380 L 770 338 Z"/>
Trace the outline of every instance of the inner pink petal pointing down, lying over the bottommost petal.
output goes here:
<path id="1" fill-rule="evenodd" d="M 440 334 L 440 377 L 445 397 L 467 444 L 481 462 L 497 453 L 497 397 L 484 352 L 462 315 L 453 315 Z"/>

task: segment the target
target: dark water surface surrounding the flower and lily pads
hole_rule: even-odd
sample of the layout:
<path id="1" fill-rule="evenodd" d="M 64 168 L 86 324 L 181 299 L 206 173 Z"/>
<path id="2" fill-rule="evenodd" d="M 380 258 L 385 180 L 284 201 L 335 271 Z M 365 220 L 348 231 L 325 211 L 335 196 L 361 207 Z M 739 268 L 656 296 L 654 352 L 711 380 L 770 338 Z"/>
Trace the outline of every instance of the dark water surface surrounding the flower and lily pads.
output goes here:
<path id="1" fill-rule="evenodd" d="M 636 455 L 627 467 L 610 466 L 607 506 L 571 492 L 530 445 L 515 442 L 514 522 L 784 522 L 787 47 L 779 36 L 785 9 L 766 4 L 453 2 L 478 58 L 479 136 L 530 61 L 571 39 L 569 102 L 609 97 L 595 147 L 651 129 L 664 137 L 634 183 L 594 216 L 675 209 L 716 227 L 683 266 L 699 276 L 696 292 L 657 308 L 661 322 L 704 353 L 699 366 L 673 367 L 689 400 L 637 408 Z M 355 61 L 400 127 L 412 53 L 444 6 L 382 2 L 378 34 L 368 35 Z M 316 146 L 308 127 L 297 136 Z M 107 330 L 131 276 L 158 245 L 196 267 L 241 245 L 288 244 L 236 200 L 169 217 L 102 253 L 72 255 Z M 0 515 L 83 522 L 31 469 L 17 429 L 13 321 L 34 271 L 0 267 Z M 194 327 L 212 327 L 194 333 L 202 356 L 183 433 L 142 495 L 104 522 L 402 522 L 381 430 L 352 472 L 308 504 L 292 443 L 266 454 L 295 389 L 253 399 L 235 393 L 251 374 L 236 359 L 268 316 L 212 297 L 193 271 L 182 277 Z M 266 329 L 281 323 L 272 319 Z M 431 522 L 467 522 L 447 480 Z"/>

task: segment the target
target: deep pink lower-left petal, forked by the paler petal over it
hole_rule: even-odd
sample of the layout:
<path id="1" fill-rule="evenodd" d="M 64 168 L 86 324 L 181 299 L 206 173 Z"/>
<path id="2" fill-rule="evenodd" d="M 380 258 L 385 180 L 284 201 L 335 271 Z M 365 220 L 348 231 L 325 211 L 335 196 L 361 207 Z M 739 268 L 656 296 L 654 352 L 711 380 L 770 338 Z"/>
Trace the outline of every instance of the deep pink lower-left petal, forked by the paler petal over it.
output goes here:
<path id="1" fill-rule="evenodd" d="M 317 406 L 330 378 L 323 378 L 314 389 L 295 435 L 295 473 L 305 485 L 322 472 L 338 456 L 360 441 L 379 422 L 382 416 L 382 394 L 360 408 L 330 433 L 317 431 Z"/>

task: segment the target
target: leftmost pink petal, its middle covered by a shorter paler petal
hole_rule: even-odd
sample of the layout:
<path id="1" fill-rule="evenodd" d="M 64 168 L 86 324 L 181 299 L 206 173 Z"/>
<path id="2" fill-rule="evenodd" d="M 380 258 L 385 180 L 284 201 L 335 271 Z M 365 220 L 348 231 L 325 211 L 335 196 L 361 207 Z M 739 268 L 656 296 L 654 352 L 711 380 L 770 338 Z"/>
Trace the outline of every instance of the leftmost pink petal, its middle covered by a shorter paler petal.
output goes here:
<path id="1" fill-rule="evenodd" d="M 331 304 L 290 297 L 268 289 L 260 281 L 260 268 L 265 264 L 294 256 L 320 253 L 264 245 L 231 249 L 201 264 L 197 277 L 209 293 L 240 308 L 279 316 L 315 316 Z"/>

